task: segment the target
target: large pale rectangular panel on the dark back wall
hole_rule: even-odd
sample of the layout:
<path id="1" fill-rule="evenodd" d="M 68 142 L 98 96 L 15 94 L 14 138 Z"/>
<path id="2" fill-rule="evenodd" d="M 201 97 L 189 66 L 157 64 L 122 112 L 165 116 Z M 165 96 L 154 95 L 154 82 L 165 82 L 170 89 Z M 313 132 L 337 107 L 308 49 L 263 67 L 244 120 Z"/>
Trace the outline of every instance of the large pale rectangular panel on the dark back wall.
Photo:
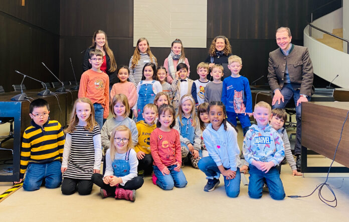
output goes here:
<path id="1" fill-rule="evenodd" d="M 133 46 L 145 37 L 150 47 L 206 48 L 207 0 L 133 0 Z"/>

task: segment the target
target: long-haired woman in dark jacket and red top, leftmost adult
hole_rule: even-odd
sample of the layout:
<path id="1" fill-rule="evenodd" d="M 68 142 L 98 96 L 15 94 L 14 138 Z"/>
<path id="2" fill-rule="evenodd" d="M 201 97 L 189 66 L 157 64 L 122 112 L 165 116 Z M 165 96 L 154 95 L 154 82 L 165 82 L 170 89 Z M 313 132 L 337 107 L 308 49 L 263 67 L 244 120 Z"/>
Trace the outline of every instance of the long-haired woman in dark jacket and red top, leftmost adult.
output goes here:
<path id="1" fill-rule="evenodd" d="M 113 86 L 117 82 L 117 76 L 114 73 L 116 71 L 116 62 L 113 51 L 108 46 L 107 35 L 104 31 L 98 30 L 93 34 L 92 45 L 85 50 L 84 61 L 82 63 L 82 69 L 84 71 L 92 68 L 89 63 L 89 54 L 92 49 L 99 49 L 103 52 L 103 63 L 101 70 L 109 76 L 109 85 Z"/>

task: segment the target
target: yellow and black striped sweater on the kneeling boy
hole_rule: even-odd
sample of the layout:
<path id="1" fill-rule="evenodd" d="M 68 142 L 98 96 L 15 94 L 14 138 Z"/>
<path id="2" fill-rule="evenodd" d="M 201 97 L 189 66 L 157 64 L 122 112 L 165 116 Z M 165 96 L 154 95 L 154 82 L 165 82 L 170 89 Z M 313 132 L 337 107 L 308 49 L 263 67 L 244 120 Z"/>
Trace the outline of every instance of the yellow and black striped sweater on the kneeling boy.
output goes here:
<path id="1" fill-rule="evenodd" d="M 23 179 L 28 164 L 62 161 L 65 138 L 58 121 L 48 120 L 43 127 L 34 121 L 23 134 L 20 178 Z"/>

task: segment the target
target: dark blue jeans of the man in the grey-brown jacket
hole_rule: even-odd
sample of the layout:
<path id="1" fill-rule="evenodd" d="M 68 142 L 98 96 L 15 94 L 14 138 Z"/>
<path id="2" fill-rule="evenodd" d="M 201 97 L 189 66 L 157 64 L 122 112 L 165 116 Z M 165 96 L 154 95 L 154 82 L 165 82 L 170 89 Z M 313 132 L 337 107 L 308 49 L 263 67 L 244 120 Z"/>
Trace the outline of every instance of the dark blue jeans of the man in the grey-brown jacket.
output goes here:
<path id="1" fill-rule="evenodd" d="M 300 154 L 300 148 L 301 148 L 301 119 L 300 119 L 300 104 L 297 106 L 297 100 L 299 99 L 299 90 L 294 90 L 292 88 L 291 84 L 284 84 L 281 89 L 281 94 L 284 97 L 284 102 L 280 100 L 280 104 L 276 102 L 273 105 L 273 108 L 285 108 L 286 104 L 293 98 L 294 100 L 294 106 L 296 107 L 296 121 L 297 121 L 297 130 L 296 130 L 296 145 L 294 147 L 294 153 L 296 155 Z M 310 96 L 307 97 L 308 101 L 310 101 Z"/>

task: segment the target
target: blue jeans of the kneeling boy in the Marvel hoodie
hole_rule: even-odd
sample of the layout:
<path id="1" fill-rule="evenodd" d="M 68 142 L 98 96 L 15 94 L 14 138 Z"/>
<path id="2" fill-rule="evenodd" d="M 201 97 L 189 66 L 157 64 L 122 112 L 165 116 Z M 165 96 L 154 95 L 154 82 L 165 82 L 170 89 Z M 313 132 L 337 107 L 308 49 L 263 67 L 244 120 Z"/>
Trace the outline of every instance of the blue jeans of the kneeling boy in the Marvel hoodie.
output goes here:
<path id="1" fill-rule="evenodd" d="M 281 200 L 285 198 L 285 191 L 283 189 L 282 181 L 280 179 L 279 171 L 276 167 L 270 168 L 268 173 L 257 169 L 257 167 L 250 164 L 250 182 L 248 184 L 248 195 L 252 198 L 261 198 L 264 185 L 264 179 L 268 185 L 269 194 L 271 198 Z"/>

